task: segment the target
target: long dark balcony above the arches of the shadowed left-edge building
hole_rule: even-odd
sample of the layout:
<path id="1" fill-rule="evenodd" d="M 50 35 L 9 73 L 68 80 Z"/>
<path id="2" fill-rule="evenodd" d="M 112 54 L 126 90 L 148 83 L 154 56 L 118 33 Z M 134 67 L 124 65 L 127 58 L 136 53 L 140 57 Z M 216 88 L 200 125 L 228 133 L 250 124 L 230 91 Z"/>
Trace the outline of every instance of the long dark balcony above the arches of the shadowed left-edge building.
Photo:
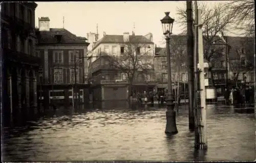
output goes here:
<path id="1" fill-rule="evenodd" d="M 4 49 L 4 56 L 8 61 L 15 63 L 29 64 L 34 66 L 40 66 L 42 64 L 42 60 L 39 57 L 31 56 L 6 48 Z"/>

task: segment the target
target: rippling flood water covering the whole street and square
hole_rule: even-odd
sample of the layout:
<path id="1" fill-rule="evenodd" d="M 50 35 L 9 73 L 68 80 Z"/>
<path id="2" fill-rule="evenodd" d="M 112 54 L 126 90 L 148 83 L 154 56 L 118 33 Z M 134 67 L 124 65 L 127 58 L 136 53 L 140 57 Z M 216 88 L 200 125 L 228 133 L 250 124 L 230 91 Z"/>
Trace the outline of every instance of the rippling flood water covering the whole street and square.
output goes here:
<path id="1" fill-rule="evenodd" d="M 176 114 L 179 133 L 164 133 L 165 108 L 59 109 L 26 125 L 5 127 L 3 161 L 234 161 L 255 159 L 254 114 L 207 106 L 206 152 L 194 150 L 188 107 Z"/>

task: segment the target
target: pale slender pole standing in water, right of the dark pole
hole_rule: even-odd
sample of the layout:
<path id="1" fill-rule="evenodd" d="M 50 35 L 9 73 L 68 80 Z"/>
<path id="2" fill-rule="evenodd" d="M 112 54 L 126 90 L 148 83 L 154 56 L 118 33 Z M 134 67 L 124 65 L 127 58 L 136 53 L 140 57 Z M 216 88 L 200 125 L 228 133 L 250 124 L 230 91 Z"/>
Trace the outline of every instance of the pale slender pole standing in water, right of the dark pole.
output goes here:
<path id="1" fill-rule="evenodd" d="M 196 144 L 197 149 L 207 149 L 207 125 L 206 125 L 206 104 L 205 104 L 205 85 L 204 85 L 204 55 L 203 55 L 203 34 L 201 22 L 201 10 L 197 11 L 197 30 L 198 30 L 198 75 L 199 75 L 199 89 L 200 102 L 198 106 L 198 124 L 197 130 L 199 133 L 199 140 Z"/>

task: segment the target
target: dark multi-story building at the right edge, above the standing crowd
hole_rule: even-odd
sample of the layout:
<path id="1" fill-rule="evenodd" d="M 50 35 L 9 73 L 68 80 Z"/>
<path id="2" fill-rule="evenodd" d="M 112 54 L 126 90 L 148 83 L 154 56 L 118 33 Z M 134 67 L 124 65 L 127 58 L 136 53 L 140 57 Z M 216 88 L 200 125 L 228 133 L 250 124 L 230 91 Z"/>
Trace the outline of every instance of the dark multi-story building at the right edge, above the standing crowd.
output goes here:
<path id="1" fill-rule="evenodd" d="M 255 83 L 255 63 L 254 63 L 254 38 L 253 37 L 224 37 L 230 47 L 228 53 L 228 78 L 231 85 Z"/>

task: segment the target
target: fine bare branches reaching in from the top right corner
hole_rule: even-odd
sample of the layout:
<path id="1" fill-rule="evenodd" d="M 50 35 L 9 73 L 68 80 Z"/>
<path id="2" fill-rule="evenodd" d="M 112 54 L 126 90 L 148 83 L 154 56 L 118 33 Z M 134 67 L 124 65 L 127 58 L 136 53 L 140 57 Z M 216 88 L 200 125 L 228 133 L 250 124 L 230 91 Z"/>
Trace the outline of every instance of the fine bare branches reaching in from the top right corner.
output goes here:
<path id="1" fill-rule="evenodd" d="M 242 31 L 244 36 L 254 36 L 255 33 L 255 20 L 254 20 L 254 1 L 231 1 L 226 7 L 233 15 L 233 29 Z"/>

